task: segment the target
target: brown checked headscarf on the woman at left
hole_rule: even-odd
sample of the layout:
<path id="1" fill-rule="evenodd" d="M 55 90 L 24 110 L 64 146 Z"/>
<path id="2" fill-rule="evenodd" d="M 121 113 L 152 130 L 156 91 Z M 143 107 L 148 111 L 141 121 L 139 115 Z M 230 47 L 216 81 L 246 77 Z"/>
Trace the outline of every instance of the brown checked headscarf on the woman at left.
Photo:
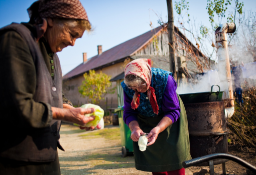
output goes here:
<path id="1" fill-rule="evenodd" d="M 40 16 L 88 20 L 87 13 L 79 0 L 37 0 L 28 8 L 28 13 L 30 18 Z"/>

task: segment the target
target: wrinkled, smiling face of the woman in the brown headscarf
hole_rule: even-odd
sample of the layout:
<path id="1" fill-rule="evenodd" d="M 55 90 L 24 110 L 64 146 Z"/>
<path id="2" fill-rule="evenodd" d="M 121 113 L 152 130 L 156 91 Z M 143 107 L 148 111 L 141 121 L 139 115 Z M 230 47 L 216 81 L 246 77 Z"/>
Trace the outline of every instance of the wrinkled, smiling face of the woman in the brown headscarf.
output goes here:
<path id="1" fill-rule="evenodd" d="M 61 51 L 68 45 L 73 46 L 77 38 L 82 37 L 84 29 L 71 19 L 63 20 L 47 18 L 48 26 L 45 37 L 53 52 Z"/>

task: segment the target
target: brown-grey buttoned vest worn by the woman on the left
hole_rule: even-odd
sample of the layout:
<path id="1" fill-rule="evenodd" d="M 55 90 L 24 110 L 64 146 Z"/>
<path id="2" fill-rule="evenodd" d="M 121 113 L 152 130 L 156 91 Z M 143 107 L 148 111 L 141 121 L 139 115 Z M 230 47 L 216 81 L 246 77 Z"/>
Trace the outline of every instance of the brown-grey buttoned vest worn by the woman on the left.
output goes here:
<path id="1" fill-rule="evenodd" d="M 31 31 L 26 26 L 19 23 L 7 25 L 1 28 L 0 32 L 6 30 L 17 31 L 29 45 L 37 71 L 37 86 L 33 99 L 36 102 L 43 101 L 54 107 L 63 108 L 62 72 L 57 54 L 54 54 L 55 77 L 52 79 L 41 50 Z M 11 143 L 10 145 L 5 145 L 8 149 L 0 152 L 0 156 L 2 158 L 21 161 L 47 162 L 55 160 L 57 146 L 62 148 L 58 141 L 60 138 L 60 125 L 60 120 L 52 120 L 49 127 L 25 128 L 24 130 L 26 131 L 21 131 L 19 134 L 11 134 L 10 132 L 7 132 L 6 134 L 10 135 L 10 139 L 16 139 L 19 140 L 19 142 L 15 145 Z M 15 128 L 10 126 L 10 129 Z M 19 130 L 17 130 L 17 132 L 19 132 Z"/>

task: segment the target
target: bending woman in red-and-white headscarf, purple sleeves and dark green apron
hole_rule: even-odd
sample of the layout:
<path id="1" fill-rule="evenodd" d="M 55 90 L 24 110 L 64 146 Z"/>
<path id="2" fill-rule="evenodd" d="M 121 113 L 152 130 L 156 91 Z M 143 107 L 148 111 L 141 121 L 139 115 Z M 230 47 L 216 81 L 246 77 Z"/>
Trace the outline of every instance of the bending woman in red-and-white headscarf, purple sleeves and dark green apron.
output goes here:
<path id="1" fill-rule="evenodd" d="M 172 73 L 151 68 L 150 59 L 136 59 L 124 74 L 123 120 L 132 131 L 136 168 L 185 175 L 182 162 L 191 159 L 187 116 Z M 138 140 L 146 133 L 147 148 L 141 151 Z"/>

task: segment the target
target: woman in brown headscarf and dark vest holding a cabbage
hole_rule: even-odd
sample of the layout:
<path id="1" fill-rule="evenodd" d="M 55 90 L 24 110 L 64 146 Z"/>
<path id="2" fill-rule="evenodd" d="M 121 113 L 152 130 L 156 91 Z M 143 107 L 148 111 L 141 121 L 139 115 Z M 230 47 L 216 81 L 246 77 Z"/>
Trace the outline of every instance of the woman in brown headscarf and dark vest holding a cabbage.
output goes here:
<path id="1" fill-rule="evenodd" d="M 91 28 L 81 2 L 38 0 L 28 12 L 28 23 L 0 29 L 1 175 L 60 174 L 61 120 L 84 125 L 94 119 L 84 117 L 93 108 L 74 108 L 62 94 L 56 54 Z"/>

